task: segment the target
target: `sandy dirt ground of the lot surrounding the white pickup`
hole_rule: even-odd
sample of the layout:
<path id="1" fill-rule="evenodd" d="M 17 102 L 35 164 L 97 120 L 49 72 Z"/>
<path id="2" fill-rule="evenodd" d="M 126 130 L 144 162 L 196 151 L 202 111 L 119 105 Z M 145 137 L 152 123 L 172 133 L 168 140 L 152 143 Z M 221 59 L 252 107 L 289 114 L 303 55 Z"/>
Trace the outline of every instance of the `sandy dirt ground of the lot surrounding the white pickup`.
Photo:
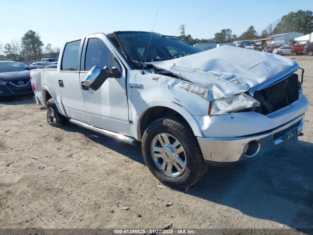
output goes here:
<path id="1" fill-rule="evenodd" d="M 139 146 L 53 128 L 32 97 L 0 101 L 0 228 L 313 228 L 313 57 L 291 58 L 306 70 L 304 136 L 259 161 L 210 167 L 188 191 L 161 186 Z"/>

